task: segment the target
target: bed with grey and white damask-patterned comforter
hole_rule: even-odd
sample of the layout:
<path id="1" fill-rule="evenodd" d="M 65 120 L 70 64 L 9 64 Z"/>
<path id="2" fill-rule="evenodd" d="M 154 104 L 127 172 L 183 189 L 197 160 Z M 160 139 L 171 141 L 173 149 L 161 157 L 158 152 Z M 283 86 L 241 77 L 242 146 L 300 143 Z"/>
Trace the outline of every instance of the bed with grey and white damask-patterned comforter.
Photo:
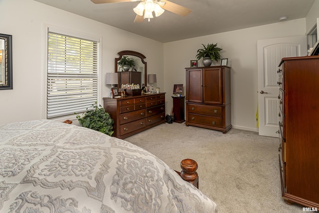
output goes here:
<path id="1" fill-rule="evenodd" d="M 216 204 L 151 153 L 76 125 L 0 125 L 0 212 L 214 213 Z"/>

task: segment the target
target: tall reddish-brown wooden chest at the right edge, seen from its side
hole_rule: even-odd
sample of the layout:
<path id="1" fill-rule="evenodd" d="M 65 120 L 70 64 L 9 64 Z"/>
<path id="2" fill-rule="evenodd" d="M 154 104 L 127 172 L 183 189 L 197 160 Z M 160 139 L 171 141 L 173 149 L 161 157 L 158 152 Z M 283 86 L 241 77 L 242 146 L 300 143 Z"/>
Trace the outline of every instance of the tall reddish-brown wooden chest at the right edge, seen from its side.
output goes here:
<path id="1" fill-rule="evenodd" d="M 319 209 L 319 56 L 283 58 L 280 66 L 282 196 Z"/>

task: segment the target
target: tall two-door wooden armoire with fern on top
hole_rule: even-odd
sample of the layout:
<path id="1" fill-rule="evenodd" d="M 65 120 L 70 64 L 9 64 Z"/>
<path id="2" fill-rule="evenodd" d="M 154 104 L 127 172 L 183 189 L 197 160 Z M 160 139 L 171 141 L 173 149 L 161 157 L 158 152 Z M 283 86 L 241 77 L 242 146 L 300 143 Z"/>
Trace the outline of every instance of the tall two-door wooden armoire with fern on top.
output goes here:
<path id="1" fill-rule="evenodd" d="M 186 68 L 186 125 L 231 129 L 230 67 Z"/>

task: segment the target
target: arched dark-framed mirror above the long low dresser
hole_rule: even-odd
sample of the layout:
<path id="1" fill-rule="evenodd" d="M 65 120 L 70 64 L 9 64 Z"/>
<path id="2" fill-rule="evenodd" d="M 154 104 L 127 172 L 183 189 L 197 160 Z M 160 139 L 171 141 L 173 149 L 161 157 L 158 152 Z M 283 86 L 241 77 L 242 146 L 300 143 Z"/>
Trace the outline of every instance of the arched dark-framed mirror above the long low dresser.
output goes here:
<path id="1" fill-rule="evenodd" d="M 140 52 L 132 51 L 132 50 L 123 50 L 118 52 L 119 57 L 115 58 L 115 72 L 121 72 L 122 67 L 118 65 L 119 60 L 123 56 L 129 56 L 133 58 L 135 61 L 135 66 L 130 68 L 130 71 L 138 71 L 141 72 L 141 86 L 145 84 L 147 85 L 147 62 L 144 60 L 146 57 Z"/>

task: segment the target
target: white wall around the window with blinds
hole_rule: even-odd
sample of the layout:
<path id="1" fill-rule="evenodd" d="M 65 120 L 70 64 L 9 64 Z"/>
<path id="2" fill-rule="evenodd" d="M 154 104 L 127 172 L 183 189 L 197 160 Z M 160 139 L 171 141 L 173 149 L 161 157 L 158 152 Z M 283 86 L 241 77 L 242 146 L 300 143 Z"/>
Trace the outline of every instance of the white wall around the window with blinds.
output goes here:
<path id="1" fill-rule="evenodd" d="M 147 58 L 149 73 L 163 88 L 163 44 L 33 0 L 0 0 L 0 33 L 12 35 L 13 90 L 0 90 L 0 124 L 42 119 L 44 26 L 102 38 L 102 95 L 108 97 L 105 73 L 114 71 L 114 58 L 134 50 Z M 102 102 L 102 100 L 100 100 Z"/>

